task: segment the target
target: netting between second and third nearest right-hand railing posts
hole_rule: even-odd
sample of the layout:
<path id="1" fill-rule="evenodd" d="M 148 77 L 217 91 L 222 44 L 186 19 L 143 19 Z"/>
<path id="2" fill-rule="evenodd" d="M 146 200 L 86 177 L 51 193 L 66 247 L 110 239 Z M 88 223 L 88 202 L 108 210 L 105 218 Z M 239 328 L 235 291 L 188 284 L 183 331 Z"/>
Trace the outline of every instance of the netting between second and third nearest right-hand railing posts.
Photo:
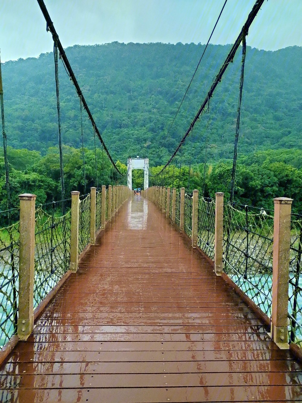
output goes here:
<path id="1" fill-rule="evenodd" d="M 215 201 L 207 197 L 198 201 L 197 245 L 214 260 Z"/>

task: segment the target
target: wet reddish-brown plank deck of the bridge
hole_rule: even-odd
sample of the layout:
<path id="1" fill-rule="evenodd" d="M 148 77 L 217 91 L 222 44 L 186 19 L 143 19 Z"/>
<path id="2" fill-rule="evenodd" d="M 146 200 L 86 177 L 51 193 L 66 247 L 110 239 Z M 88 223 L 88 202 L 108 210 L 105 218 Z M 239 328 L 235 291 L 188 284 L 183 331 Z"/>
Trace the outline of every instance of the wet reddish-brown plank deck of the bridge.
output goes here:
<path id="1" fill-rule="evenodd" d="M 2 365 L 1 401 L 302 401 L 301 365 L 142 197 Z"/>

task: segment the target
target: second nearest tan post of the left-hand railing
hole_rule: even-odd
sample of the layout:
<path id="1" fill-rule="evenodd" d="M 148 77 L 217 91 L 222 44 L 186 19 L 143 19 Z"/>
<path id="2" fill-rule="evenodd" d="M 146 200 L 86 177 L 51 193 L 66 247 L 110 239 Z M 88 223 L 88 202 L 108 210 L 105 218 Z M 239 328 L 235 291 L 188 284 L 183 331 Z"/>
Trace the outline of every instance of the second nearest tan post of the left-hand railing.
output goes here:
<path id="1" fill-rule="evenodd" d="M 71 192 L 71 224 L 70 224 L 70 270 L 78 271 L 79 260 L 79 207 L 80 192 Z"/>

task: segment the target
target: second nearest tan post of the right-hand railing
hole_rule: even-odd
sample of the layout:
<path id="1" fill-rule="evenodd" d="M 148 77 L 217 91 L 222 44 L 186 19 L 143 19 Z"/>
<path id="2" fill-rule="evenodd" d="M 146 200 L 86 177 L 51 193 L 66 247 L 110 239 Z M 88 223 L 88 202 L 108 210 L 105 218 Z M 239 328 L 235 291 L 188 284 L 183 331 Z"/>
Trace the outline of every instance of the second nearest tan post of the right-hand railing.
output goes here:
<path id="1" fill-rule="evenodd" d="M 215 193 L 215 246 L 214 246 L 214 268 L 215 274 L 221 276 L 223 261 L 223 197 L 224 193 Z"/>

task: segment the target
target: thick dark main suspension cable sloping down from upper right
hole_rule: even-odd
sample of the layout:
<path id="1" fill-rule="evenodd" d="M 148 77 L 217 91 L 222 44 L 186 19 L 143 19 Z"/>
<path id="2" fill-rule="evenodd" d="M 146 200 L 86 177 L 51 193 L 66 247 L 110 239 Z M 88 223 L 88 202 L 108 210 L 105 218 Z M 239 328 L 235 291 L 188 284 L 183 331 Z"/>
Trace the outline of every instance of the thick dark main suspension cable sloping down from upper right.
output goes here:
<path id="1" fill-rule="evenodd" d="M 256 0 L 256 3 L 254 4 L 250 14 L 248 15 L 248 18 L 247 18 L 244 26 L 242 27 L 242 29 L 240 31 L 240 34 L 238 35 L 234 45 L 232 46 L 232 49 L 230 50 L 230 52 L 229 52 L 227 58 L 225 59 L 225 61 L 223 62 L 222 66 L 221 66 L 221 68 L 219 70 L 219 73 L 216 75 L 216 77 L 214 79 L 214 82 L 211 85 L 211 88 L 209 89 L 209 91 L 207 93 L 207 96 L 205 97 L 205 100 L 201 104 L 201 107 L 199 108 L 197 114 L 195 115 L 195 117 L 193 118 L 192 122 L 190 123 L 190 127 L 188 128 L 188 130 L 186 131 L 186 133 L 184 134 L 184 136 L 180 140 L 180 143 L 176 147 L 176 150 L 174 151 L 174 153 L 172 154 L 172 156 L 170 157 L 168 162 L 165 164 L 165 166 L 168 166 L 168 164 L 170 164 L 170 162 L 172 161 L 172 158 L 174 158 L 174 156 L 176 155 L 176 153 L 180 149 L 182 143 L 185 141 L 186 137 L 189 135 L 190 131 L 192 130 L 192 127 L 197 122 L 197 120 L 199 120 L 199 116 L 201 115 L 201 113 L 205 109 L 205 106 L 207 105 L 207 102 L 208 102 L 209 98 L 211 98 L 211 96 L 213 95 L 213 92 L 214 92 L 215 88 L 217 87 L 218 83 L 221 81 L 221 78 L 222 78 L 223 74 L 225 73 L 225 70 L 228 68 L 228 65 L 233 61 L 234 56 L 236 54 L 236 50 L 239 48 L 239 46 L 240 46 L 240 44 L 242 42 L 243 35 L 248 35 L 248 29 L 249 29 L 250 25 L 252 24 L 252 22 L 254 21 L 254 19 L 255 19 L 257 13 L 258 13 L 260 7 L 264 3 L 264 1 L 265 0 Z M 165 168 L 165 166 L 163 167 L 163 169 Z M 161 172 L 158 172 L 157 175 L 159 175 L 160 173 Z"/>

